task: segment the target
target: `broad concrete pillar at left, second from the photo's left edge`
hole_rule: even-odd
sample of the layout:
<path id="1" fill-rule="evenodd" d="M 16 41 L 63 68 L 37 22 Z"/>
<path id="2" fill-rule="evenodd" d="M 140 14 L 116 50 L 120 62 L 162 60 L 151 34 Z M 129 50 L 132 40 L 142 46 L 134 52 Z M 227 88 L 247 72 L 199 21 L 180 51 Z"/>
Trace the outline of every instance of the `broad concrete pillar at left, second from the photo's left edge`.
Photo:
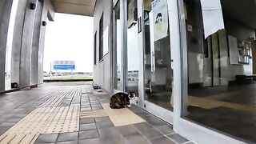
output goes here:
<path id="1" fill-rule="evenodd" d="M 31 47 L 36 12 L 31 10 L 31 3 L 37 4 L 37 0 L 19 1 L 14 25 L 11 82 L 17 82 L 19 88 L 30 86 Z"/>

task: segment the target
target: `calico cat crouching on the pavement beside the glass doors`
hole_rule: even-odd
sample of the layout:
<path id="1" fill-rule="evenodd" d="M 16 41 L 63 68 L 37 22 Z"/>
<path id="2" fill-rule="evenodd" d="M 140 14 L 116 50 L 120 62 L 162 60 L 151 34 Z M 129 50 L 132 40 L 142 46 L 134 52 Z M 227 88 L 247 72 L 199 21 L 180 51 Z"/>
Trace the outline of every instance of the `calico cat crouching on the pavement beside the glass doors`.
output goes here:
<path id="1" fill-rule="evenodd" d="M 110 98 L 110 108 L 121 109 L 130 106 L 130 99 L 135 98 L 135 93 L 130 91 L 128 94 L 119 92 Z"/>

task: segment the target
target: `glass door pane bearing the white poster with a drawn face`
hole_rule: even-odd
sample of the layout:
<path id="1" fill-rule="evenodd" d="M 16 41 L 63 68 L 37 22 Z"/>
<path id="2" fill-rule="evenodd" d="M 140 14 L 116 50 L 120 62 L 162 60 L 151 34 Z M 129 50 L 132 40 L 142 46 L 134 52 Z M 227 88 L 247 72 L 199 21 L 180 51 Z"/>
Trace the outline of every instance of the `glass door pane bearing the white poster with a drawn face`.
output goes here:
<path id="1" fill-rule="evenodd" d="M 144 1 L 146 100 L 173 110 L 173 70 L 170 59 L 170 32 L 166 0 Z"/>

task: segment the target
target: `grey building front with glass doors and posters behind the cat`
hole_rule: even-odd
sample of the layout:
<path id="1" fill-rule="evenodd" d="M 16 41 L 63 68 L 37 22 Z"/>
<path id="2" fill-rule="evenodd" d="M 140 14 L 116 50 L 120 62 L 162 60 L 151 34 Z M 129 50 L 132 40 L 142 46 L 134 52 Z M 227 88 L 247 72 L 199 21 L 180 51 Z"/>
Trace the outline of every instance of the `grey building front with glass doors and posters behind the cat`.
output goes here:
<path id="1" fill-rule="evenodd" d="M 194 142 L 256 142 L 255 8 L 253 0 L 98 0 L 94 84 L 134 91 L 134 105 Z"/>

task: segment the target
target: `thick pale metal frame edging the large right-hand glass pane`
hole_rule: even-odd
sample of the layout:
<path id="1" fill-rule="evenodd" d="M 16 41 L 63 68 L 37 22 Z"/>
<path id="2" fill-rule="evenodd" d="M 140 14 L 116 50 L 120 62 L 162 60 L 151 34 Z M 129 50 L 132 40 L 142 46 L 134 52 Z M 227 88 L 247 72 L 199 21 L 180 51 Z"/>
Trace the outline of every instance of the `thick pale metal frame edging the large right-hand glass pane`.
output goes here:
<path id="1" fill-rule="evenodd" d="M 171 0 L 167 0 L 170 2 Z M 174 3 L 174 4 L 173 4 Z M 184 115 L 187 113 L 188 105 L 188 62 L 187 62 L 187 42 L 186 42 L 186 11 L 183 0 L 174 0 L 170 4 L 173 11 L 171 16 L 177 30 L 170 27 L 174 35 L 171 38 L 171 46 L 174 46 L 174 131 L 183 137 L 194 140 L 196 143 L 244 143 L 237 139 L 230 138 L 218 131 L 210 130 L 205 126 L 191 122 Z M 171 24 L 171 25 L 172 25 Z M 175 32 L 176 31 L 176 32 Z M 191 133 L 191 131 L 193 131 Z M 198 137 L 198 135 L 200 135 Z"/>

